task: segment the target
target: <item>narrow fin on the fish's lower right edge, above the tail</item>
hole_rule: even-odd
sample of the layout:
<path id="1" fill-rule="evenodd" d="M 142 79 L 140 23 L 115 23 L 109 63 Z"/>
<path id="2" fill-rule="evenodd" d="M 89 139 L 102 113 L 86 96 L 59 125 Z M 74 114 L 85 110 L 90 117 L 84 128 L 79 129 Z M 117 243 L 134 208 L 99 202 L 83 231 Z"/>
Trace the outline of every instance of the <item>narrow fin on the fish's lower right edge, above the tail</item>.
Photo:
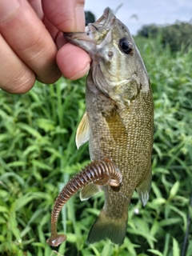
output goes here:
<path id="1" fill-rule="evenodd" d="M 143 206 L 146 206 L 146 203 L 149 200 L 151 178 L 152 174 L 151 170 L 149 170 L 146 174 L 146 177 L 142 180 L 142 182 L 139 183 L 138 187 L 136 188 Z"/>

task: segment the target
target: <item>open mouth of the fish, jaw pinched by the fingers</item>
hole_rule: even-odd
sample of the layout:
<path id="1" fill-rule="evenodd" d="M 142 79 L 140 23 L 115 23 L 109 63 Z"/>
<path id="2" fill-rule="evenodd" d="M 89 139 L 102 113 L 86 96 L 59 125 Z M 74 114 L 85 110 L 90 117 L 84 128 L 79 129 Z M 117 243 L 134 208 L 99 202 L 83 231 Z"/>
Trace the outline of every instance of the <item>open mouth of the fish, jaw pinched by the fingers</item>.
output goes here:
<path id="1" fill-rule="evenodd" d="M 114 26 L 115 16 L 109 7 L 106 7 L 104 13 L 94 23 L 86 26 L 86 32 L 63 33 L 68 42 L 79 46 L 90 55 L 94 51 L 95 45 L 100 44 L 106 34 Z"/>

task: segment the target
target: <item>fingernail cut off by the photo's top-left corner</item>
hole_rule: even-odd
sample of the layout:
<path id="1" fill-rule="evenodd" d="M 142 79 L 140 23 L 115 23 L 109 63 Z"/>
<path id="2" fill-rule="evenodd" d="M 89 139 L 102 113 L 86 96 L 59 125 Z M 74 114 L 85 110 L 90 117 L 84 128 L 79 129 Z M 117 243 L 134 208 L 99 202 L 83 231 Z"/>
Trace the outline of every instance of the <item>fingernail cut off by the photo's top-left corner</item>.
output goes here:
<path id="1" fill-rule="evenodd" d="M 20 6 L 18 0 L 0 1 L 0 22 L 8 21 Z"/>

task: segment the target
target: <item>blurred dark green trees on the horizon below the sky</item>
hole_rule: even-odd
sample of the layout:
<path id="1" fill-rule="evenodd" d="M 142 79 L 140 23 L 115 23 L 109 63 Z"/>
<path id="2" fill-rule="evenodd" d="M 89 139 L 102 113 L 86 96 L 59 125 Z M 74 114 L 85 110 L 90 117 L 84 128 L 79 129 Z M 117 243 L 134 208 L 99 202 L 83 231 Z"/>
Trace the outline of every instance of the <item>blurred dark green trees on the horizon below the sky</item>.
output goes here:
<path id="1" fill-rule="evenodd" d="M 162 46 L 170 46 L 172 52 L 190 48 L 192 41 L 192 24 L 176 22 L 169 26 L 157 26 L 155 24 L 142 26 L 138 35 L 146 38 L 161 36 Z"/>

